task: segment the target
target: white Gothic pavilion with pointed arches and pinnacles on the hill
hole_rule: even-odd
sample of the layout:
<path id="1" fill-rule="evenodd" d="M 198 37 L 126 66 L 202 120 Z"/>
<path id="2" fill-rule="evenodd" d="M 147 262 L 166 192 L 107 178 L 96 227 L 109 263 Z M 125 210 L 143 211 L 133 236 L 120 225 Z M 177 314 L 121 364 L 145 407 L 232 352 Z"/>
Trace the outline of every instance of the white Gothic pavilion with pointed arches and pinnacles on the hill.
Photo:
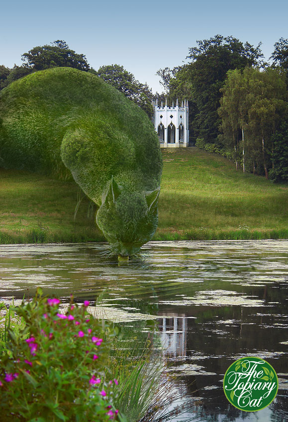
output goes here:
<path id="1" fill-rule="evenodd" d="M 154 109 L 154 128 L 158 134 L 160 146 L 188 146 L 188 101 L 182 101 L 181 107 L 179 107 L 178 99 L 175 107 L 174 101 L 172 107 L 167 107 L 167 99 L 165 106 L 163 106 L 162 102 L 161 106 L 158 106 L 158 100 L 153 101 L 152 105 Z"/>

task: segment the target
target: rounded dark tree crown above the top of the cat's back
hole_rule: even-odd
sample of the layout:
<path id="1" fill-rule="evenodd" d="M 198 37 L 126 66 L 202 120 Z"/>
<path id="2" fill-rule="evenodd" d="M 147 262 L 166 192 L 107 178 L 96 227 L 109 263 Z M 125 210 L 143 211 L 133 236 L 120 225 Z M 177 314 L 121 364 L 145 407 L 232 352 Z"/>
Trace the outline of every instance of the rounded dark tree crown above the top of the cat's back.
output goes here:
<path id="1" fill-rule="evenodd" d="M 68 67 L 88 71 L 90 69 L 86 57 L 70 50 L 67 43 L 57 40 L 52 45 L 34 47 L 22 55 L 22 60 L 33 70 L 44 70 L 54 67 Z"/>

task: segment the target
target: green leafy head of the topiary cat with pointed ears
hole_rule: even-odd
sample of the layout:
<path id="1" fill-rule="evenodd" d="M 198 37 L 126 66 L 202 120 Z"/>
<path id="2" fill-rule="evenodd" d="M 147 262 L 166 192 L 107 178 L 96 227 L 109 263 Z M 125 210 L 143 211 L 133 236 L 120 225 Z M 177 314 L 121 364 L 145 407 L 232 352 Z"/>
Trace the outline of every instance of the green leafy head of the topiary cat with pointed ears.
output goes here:
<path id="1" fill-rule="evenodd" d="M 112 177 L 96 222 L 115 253 L 134 255 L 152 238 L 158 224 L 159 192 L 160 188 L 149 192 L 130 191 Z"/>

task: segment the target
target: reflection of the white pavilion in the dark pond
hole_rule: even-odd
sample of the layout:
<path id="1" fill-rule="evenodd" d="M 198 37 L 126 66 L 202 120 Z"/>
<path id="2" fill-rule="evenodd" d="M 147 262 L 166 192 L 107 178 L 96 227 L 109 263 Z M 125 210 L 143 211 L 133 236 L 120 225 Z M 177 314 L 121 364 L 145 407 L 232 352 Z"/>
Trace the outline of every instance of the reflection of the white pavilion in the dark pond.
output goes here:
<path id="1" fill-rule="evenodd" d="M 162 323 L 162 324 L 161 324 Z M 186 356 L 187 352 L 187 318 L 163 317 L 159 323 L 160 338 L 165 354 Z"/>

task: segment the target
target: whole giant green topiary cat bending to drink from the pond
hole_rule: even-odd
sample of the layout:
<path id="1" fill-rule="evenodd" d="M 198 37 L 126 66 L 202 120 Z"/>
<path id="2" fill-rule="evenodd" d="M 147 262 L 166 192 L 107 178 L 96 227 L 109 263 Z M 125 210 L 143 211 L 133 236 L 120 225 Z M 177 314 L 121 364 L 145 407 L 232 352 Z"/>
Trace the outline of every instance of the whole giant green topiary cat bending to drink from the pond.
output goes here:
<path id="1" fill-rule="evenodd" d="M 162 158 L 153 125 L 93 74 L 53 68 L 4 88 L 0 165 L 72 174 L 99 207 L 97 225 L 119 255 L 136 253 L 157 228 Z"/>

